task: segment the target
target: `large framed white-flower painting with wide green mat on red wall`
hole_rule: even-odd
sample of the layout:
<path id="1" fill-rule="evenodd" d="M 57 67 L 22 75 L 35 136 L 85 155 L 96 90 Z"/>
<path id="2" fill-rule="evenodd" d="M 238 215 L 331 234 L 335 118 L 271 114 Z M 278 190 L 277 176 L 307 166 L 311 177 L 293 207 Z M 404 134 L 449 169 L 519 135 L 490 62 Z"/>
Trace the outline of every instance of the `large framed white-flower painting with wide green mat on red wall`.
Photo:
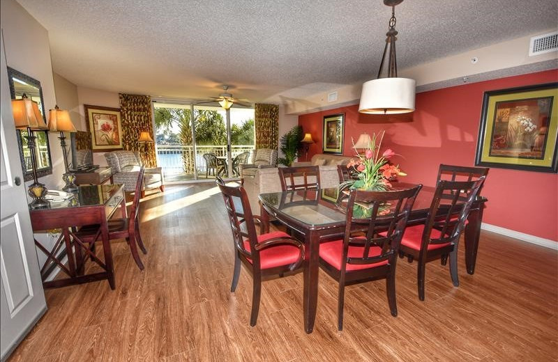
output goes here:
<path id="1" fill-rule="evenodd" d="M 558 83 L 484 93 L 477 166 L 558 172 Z"/>

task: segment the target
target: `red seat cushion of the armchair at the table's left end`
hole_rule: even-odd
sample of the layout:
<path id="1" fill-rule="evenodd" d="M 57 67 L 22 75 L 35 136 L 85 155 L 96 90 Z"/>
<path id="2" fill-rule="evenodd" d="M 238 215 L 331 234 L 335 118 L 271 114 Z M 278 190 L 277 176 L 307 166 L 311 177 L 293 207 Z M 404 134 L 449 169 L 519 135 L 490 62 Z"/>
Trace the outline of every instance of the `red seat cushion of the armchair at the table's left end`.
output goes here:
<path id="1" fill-rule="evenodd" d="M 267 233 L 258 235 L 258 244 L 266 242 L 274 237 L 290 237 L 287 233 L 282 231 L 274 231 L 273 233 Z M 244 240 L 244 248 L 250 251 L 250 242 Z M 269 248 L 259 251 L 259 265 L 261 269 L 271 269 L 274 267 L 281 267 L 284 265 L 293 264 L 296 260 L 299 260 L 300 251 L 299 248 L 292 245 L 276 245 L 270 246 Z M 252 262 L 252 260 L 248 259 Z"/>

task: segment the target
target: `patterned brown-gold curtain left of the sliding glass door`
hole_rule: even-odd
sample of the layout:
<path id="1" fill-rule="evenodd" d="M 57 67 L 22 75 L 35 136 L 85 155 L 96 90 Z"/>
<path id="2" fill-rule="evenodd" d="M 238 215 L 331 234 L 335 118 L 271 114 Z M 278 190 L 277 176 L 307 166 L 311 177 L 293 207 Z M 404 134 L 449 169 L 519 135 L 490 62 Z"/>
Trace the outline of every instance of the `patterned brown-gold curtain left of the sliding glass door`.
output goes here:
<path id="1" fill-rule="evenodd" d="M 138 143 L 141 132 L 153 136 L 151 97 L 149 95 L 119 94 L 124 150 L 139 151 L 146 167 L 156 167 L 155 143 Z"/>

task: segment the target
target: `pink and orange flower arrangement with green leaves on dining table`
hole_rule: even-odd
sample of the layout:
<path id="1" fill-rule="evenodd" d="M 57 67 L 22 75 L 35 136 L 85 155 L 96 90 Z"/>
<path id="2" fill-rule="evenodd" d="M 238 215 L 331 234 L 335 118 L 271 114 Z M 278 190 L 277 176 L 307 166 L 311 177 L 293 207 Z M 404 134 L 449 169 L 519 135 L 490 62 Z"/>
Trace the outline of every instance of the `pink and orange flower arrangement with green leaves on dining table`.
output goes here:
<path id="1" fill-rule="evenodd" d="M 384 133 L 382 131 L 379 134 L 372 134 L 364 152 L 356 151 L 358 159 L 351 159 L 347 164 L 347 168 L 353 168 L 356 171 L 354 179 L 342 182 L 340 189 L 349 187 L 349 189 L 385 191 L 391 187 L 390 180 L 397 176 L 407 175 L 401 172 L 399 165 L 394 166 L 389 162 L 389 159 L 396 155 L 393 150 L 388 148 L 380 154 Z"/>

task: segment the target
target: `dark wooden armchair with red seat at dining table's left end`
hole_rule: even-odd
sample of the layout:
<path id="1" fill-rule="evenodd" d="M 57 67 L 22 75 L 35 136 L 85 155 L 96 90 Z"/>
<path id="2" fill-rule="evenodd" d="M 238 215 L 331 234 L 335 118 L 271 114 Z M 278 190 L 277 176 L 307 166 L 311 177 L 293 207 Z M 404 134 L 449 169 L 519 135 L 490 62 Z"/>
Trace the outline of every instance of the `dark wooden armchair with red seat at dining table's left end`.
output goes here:
<path id="1" fill-rule="evenodd" d="M 230 187 L 217 178 L 232 230 L 234 244 L 234 272 L 231 292 L 239 283 L 241 264 L 252 275 L 252 314 L 250 326 L 255 326 L 262 292 L 262 280 L 282 277 L 297 271 L 304 260 L 304 246 L 282 231 L 256 234 L 255 219 L 248 196 L 242 186 Z M 261 222 L 261 219 L 259 219 Z"/>

